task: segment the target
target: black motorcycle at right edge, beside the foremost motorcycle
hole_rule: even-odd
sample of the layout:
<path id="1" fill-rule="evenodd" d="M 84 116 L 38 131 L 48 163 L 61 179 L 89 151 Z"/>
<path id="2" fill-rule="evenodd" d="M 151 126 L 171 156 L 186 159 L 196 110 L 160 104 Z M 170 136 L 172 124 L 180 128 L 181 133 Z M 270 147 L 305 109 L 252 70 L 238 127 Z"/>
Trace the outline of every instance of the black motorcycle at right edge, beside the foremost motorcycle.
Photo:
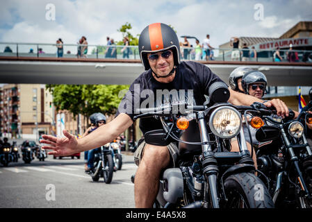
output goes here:
<path id="1" fill-rule="evenodd" d="M 258 117 L 265 126 L 256 131 L 256 156 L 259 174 L 276 207 L 312 207 L 312 152 L 304 135 L 304 126 L 294 113 L 285 119 L 271 115 Z"/>

